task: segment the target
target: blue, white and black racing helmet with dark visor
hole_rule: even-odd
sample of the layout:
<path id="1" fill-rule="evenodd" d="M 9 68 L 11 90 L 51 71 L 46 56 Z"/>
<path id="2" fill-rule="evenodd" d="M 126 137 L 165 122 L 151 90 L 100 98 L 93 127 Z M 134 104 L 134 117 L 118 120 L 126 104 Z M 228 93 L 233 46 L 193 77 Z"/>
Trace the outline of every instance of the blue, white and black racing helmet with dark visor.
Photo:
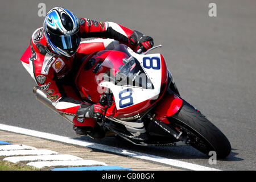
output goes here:
<path id="1" fill-rule="evenodd" d="M 71 57 L 81 42 L 76 15 L 62 7 L 51 9 L 44 19 L 43 30 L 48 46 L 58 55 Z"/>

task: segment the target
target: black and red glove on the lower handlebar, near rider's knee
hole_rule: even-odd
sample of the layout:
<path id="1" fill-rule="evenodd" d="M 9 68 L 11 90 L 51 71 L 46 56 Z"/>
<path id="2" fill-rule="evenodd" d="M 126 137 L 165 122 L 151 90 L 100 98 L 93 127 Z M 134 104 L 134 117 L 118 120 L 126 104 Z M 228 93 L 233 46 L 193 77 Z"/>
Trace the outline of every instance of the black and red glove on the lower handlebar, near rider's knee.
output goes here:
<path id="1" fill-rule="evenodd" d="M 80 118 L 93 118 L 96 121 L 101 121 L 104 114 L 105 107 L 100 104 L 81 104 L 76 112 L 77 117 Z"/>

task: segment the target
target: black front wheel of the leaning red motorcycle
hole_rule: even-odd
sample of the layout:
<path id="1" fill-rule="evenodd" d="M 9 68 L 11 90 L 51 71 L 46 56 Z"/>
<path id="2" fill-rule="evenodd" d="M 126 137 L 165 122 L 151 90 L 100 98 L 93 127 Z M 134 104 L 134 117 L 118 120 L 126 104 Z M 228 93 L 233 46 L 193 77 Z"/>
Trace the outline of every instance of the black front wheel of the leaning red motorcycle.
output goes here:
<path id="1" fill-rule="evenodd" d="M 183 132 L 189 145 L 204 154 L 215 151 L 217 158 L 225 158 L 230 154 L 228 138 L 188 102 L 183 100 L 180 110 L 168 119 L 172 127 Z"/>

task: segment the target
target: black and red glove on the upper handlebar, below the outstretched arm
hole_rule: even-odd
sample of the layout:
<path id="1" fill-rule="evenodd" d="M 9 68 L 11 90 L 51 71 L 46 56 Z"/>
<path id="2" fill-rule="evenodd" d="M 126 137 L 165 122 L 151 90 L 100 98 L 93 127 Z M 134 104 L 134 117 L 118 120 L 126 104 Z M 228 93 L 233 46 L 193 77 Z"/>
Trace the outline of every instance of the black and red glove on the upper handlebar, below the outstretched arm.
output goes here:
<path id="1" fill-rule="evenodd" d="M 134 30 L 133 34 L 131 34 L 129 43 L 133 46 L 138 46 L 138 49 L 142 49 L 142 52 L 154 46 L 154 40 L 151 36 L 146 36 L 137 30 Z"/>

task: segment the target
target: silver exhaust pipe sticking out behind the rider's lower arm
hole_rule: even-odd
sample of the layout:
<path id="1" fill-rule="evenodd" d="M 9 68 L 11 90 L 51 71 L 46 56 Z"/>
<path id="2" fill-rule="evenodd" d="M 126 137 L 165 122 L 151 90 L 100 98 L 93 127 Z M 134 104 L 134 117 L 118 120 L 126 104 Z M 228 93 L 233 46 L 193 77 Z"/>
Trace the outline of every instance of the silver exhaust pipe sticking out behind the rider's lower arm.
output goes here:
<path id="1" fill-rule="evenodd" d="M 73 123 L 73 116 L 66 115 L 64 113 L 61 113 L 59 110 L 55 108 L 55 106 L 52 105 L 52 101 L 49 100 L 46 96 L 46 94 L 40 89 L 40 86 L 35 86 L 33 88 L 33 93 L 35 94 L 35 97 L 38 101 L 42 102 L 44 105 L 48 106 L 50 109 L 55 111 L 55 113 L 60 114 L 63 118 L 67 119 L 67 121 Z"/>

